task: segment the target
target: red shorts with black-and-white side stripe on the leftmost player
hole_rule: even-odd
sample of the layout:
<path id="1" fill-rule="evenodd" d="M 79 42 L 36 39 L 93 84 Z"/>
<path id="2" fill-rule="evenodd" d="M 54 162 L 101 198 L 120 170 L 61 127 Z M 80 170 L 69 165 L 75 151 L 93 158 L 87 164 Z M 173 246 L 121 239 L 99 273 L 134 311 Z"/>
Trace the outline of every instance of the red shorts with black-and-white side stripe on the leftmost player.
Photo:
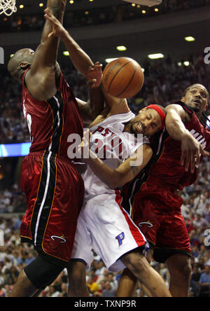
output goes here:
<path id="1" fill-rule="evenodd" d="M 83 179 L 70 161 L 45 151 L 23 160 L 21 186 L 28 206 L 20 228 L 22 242 L 34 244 L 46 260 L 66 265 L 83 205 Z"/>

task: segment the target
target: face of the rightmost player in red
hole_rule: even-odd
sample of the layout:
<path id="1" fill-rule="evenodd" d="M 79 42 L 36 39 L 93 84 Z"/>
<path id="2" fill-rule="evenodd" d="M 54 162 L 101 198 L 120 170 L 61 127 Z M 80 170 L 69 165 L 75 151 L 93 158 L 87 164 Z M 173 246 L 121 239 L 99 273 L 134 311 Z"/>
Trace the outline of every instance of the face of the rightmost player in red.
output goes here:
<path id="1" fill-rule="evenodd" d="M 207 110 L 208 92 L 203 85 L 194 85 L 181 101 L 185 102 L 195 113 L 202 113 Z"/>

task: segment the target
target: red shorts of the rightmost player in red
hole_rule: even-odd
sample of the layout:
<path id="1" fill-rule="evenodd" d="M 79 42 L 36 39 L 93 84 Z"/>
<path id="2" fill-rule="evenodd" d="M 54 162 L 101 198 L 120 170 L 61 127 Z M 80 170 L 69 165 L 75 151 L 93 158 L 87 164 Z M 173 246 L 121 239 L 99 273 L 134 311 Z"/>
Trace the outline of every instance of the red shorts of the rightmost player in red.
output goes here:
<path id="1" fill-rule="evenodd" d="M 169 188 L 144 183 L 134 197 L 132 219 L 151 246 L 155 261 L 176 253 L 190 256 L 190 240 L 181 215 L 183 200 Z"/>

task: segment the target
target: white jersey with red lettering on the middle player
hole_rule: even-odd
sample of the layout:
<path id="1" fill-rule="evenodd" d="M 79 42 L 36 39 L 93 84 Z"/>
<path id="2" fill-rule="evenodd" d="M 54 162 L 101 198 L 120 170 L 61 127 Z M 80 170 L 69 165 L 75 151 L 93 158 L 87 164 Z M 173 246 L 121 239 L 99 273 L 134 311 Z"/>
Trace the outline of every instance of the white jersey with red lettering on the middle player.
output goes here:
<path id="1" fill-rule="evenodd" d="M 149 144 L 148 138 L 143 135 L 135 137 L 134 134 L 123 132 L 125 123 L 134 118 L 132 111 L 120 113 L 106 118 L 101 123 L 90 128 L 92 132 L 90 149 L 101 158 L 106 165 L 116 170 L 116 168 L 126 158 L 129 158 L 142 144 Z M 96 195 L 115 191 L 101 179 L 99 179 L 91 168 L 87 165 L 87 170 L 82 174 L 85 183 L 85 200 Z"/>

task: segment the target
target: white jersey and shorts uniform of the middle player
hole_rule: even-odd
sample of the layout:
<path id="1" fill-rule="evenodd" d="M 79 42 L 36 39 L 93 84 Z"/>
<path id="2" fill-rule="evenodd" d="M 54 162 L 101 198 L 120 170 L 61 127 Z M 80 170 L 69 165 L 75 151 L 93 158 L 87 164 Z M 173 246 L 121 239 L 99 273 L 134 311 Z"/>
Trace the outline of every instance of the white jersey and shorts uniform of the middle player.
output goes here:
<path id="1" fill-rule="evenodd" d="M 142 135 L 136 138 L 123 132 L 125 123 L 134 116 L 131 111 L 121 113 L 90 128 L 92 150 L 113 169 L 139 146 L 149 143 Z M 90 167 L 83 174 L 83 179 L 85 200 L 78 217 L 71 258 L 84 261 L 90 268 L 94 249 L 111 272 L 118 272 L 125 268 L 120 258 L 137 247 L 146 247 L 146 238 L 121 206 L 120 191 L 106 186 Z"/>

